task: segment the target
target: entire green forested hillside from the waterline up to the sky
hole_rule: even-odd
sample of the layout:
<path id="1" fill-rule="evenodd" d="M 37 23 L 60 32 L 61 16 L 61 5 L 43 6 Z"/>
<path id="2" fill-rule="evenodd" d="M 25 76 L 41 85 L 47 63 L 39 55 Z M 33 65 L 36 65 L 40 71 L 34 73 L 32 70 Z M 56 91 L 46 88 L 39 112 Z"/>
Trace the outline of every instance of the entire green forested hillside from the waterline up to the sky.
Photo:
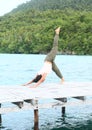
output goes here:
<path id="1" fill-rule="evenodd" d="M 0 17 L 0 53 L 47 53 L 61 27 L 60 54 L 92 55 L 92 0 L 31 0 Z"/>

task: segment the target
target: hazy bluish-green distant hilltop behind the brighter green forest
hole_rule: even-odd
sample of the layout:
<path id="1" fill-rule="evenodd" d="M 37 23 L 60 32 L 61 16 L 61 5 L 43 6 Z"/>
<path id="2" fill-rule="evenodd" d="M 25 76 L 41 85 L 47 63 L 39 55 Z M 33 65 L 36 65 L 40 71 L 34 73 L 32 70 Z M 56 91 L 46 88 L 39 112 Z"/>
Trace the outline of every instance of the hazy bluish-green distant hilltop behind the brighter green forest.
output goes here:
<path id="1" fill-rule="evenodd" d="M 45 11 L 48 9 L 52 10 L 63 10 L 71 8 L 74 10 L 87 10 L 92 11 L 92 0 L 31 0 L 26 4 L 20 5 L 13 11 L 21 11 L 28 9 L 36 9 Z"/>

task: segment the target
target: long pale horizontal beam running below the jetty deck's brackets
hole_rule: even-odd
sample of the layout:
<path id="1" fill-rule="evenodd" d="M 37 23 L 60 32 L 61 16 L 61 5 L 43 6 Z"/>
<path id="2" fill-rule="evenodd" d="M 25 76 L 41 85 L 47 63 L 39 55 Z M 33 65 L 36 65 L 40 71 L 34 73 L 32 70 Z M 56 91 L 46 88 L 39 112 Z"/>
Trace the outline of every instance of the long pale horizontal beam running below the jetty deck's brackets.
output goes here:
<path id="1" fill-rule="evenodd" d="M 53 101 L 50 103 L 43 103 L 43 104 L 36 104 L 31 105 L 29 103 L 26 103 L 23 105 L 23 107 L 20 109 L 17 106 L 9 106 L 9 107 L 2 107 L 0 108 L 0 114 L 5 114 L 9 112 L 17 112 L 21 110 L 31 110 L 31 109 L 46 109 L 46 108 L 57 108 L 57 107 L 68 107 L 68 106 L 82 106 L 82 105 L 92 105 L 92 99 L 87 99 L 85 101 L 81 100 L 74 100 L 74 101 L 68 101 L 68 102 L 61 102 L 61 101 Z"/>

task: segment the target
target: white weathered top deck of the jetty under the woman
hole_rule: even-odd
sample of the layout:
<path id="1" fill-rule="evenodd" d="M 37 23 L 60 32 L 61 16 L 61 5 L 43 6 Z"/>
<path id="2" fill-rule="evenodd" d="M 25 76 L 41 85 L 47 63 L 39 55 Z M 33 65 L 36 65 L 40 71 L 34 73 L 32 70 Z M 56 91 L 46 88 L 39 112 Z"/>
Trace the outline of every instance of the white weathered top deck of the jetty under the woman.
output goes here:
<path id="1" fill-rule="evenodd" d="M 27 99 L 68 98 L 92 96 L 92 82 L 65 82 L 29 86 L 0 86 L 0 103 L 19 102 Z"/>

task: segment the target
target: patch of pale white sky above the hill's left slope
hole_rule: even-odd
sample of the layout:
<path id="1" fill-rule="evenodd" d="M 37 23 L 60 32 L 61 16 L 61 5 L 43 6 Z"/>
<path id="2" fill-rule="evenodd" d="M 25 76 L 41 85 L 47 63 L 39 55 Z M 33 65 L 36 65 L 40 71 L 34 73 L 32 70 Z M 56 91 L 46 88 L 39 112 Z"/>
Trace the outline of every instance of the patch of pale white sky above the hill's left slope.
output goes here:
<path id="1" fill-rule="evenodd" d="M 0 16 L 9 13 L 18 5 L 26 3 L 30 0 L 0 0 Z"/>

